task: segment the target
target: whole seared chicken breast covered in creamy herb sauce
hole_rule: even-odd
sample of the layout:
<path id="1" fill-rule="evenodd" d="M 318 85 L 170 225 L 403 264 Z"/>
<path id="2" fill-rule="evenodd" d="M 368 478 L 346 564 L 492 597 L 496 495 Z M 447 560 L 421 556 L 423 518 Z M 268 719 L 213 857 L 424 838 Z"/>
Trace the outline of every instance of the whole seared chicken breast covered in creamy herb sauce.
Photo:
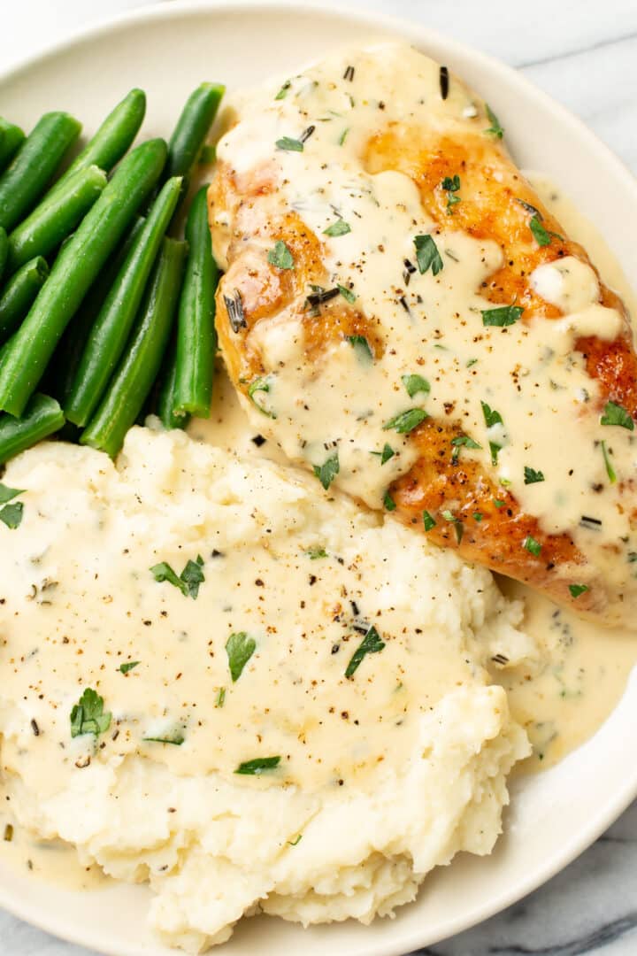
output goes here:
<path id="1" fill-rule="evenodd" d="M 629 619 L 626 309 L 492 110 L 401 43 L 336 54 L 236 109 L 209 192 L 217 327 L 259 430 L 324 488 Z"/>

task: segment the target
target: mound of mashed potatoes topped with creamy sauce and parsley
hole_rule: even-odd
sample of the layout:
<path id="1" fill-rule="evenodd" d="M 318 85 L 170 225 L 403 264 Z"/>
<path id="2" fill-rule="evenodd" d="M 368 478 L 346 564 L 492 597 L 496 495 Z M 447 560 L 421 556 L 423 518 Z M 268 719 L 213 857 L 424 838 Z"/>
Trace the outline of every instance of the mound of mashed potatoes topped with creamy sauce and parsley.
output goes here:
<path id="1" fill-rule="evenodd" d="M 488 572 L 179 432 L 133 429 L 117 467 L 39 445 L 3 482 L 4 792 L 149 880 L 168 943 L 258 909 L 369 922 L 490 852 L 529 746 L 483 665 L 532 647 Z"/>

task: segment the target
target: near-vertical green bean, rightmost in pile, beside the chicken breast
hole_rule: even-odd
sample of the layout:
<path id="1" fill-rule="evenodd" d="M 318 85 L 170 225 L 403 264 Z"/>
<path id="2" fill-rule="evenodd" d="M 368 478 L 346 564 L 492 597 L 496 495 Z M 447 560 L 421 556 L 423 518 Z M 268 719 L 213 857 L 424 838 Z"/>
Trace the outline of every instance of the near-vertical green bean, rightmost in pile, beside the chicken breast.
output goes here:
<path id="1" fill-rule="evenodd" d="M 176 381 L 172 411 L 210 417 L 212 377 L 217 348 L 215 290 L 219 280 L 212 257 L 208 226 L 207 186 L 195 196 L 185 235 L 190 251 L 180 295 L 177 335 Z"/>

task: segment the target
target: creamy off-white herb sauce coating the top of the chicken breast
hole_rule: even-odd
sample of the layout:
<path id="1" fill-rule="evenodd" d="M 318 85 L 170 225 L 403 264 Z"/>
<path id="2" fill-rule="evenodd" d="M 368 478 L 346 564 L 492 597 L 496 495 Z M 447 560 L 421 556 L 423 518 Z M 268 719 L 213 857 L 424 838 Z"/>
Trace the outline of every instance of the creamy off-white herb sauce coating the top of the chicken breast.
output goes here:
<path id="1" fill-rule="evenodd" d="M 568 532 L 589 557 L 582 568 L 563 565 L 555 574 L 590 584 L 603 568 L 607 592 L 627 600 L 635 590 L 630 554 L 637 536 L 624 484 L 635 475 L 637 439 L 624 427 L 601 424 L 598 383 L 574 350 L 581 336 L 616 337 L 622 315 L 599 303 L 594 272 L 569 256 L 531 280 L 562 318 L 485 327 L 481 312 L 493 304 L 480 289 L 502 265 L 499 247 L 454 228 L 453 215 L 448 227 L 435 228 L 409 177 L 366 167 L 366 144 L 389 124 L 471 138 L 488 125 L 483 107 L 467 112 L 477 100 L 457 80 L 440 98 L 437 64 L 395 44 L 338 54 L 291 78 L 284 92 L 277 98 L 272 87 L 240 101 L 240 121 L 218 155 L 242 175 L 267 167 L 276 189 L 255 202 L 259 220 L 294 212 L 320 236 L 329 288 L 355 294 L 384 351 L 362 362 L 341 339 L 308 361 L 300 318 L 262 319 L 247 336 L 268 385 L 258 393 L 267 415 L 246 403 L 254 426 L 294 462 L 316 467 L 337 452 L 336 486 L 378 508 L 416 457 L 409 436 L 387 424 L 415 407 L 450 421 L 452 408 L 452 419 L 479 445 L 463 447 L 463 458 L 490 470 L 490 443 L 498 444 L 496 477 L 521 510 L 537 516 L 544 532 Z M 305 139 L 303 151 L 277 148 L 284 137 Z M 457 195 L 461 201 L 461 185 Z M 215 238 L 222 259 L 229 240 L 224 215 Z M 340 222 L 349 231 L 326 234 Z M 415 270 L 407 284 L 404 261 L 414 268 L 414 238 L 430 234 L 442 269 Z M 410 398 L 402 377 L 413 373 L 429 381 L 429 394 Z M 485 423 L 482 402 L 502 417 L 495 430 Z M 395 454 L 381 464 L 385 443 Z M 541 471 L 544 481 L 526 484 L 525 467 Z M 454 510 L 453 501 L 446 504 Z M 591 528 L 583 516 L 601 524 Z"/>

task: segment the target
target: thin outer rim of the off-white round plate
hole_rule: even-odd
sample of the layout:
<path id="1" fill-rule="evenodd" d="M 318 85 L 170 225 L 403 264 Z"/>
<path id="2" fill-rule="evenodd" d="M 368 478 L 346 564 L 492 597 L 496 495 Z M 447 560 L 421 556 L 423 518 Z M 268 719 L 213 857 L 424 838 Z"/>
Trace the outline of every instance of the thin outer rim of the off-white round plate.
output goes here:
<path id="1" fill-rule="evenodd" d="M 387 30 L 393 33 L 403 33 L 410 38 L 414 44 L 425 44 L 428 41 L 444 46 L 452 55 L 469 56 L 477 63 L 478 68 L 484 69 L 492 76 L 499 76 L 502 82 L 509 88 L 521 90 L 525 98 L 535 100 L 540 107 L 550 110 L 573 134 L 584 139 L 587 149 L 594 151 L 600 161 L 610 166 L 612 175 L 619 178 L 623 188 L 634 196 L 637 203 L 637 177 L 632 173 L 628 165 L 617 156 L 616 153 L 605 143 L 584 120 L 572 113 L 559 100 L 554 99 L 548 93 L 545 93 L 530 79 L 524 76 L 519 69 L 503 62 L 498 57 L 484 53 L 478 47 L 470 43 L 457 40 L 455 37 L 432 29 L 421 22 L 414 22 L 404 16 L 394 16 L 384 12 L 366 10 L 359 7 L 350 7 L 349 3 L 342 3 L 339 0 L 302 0 L 299 5 L 295 0 L 171 0 L 170 3 L 158 2 L 139 7 L 130 11 L 121 11 L 112 16 L 104 16 L 90 26 L 81 27 L 72 32 L 67 32 L 60 36 L 52 44 L 43 44 L 32 54 L 24 57 L 12 64 L 6 70 L 0 70 L 0 84 L 8 85 L 12 81 L 19 80 L 22 76 L 47 60 L 55 59 L 66 52 L 72 50 L 75 46 L 85 43 L 91 43 L 108 36 L 109 33 L 115 33 L 125 28 L 127 25 L 138 26 L 146 21 L 172 20 L 187 17 L 192 14 L 198 14 L 202 11 L 220 12 L 259 12 L 260 15 L 277 15 L 282 12 L 293 12 L 295 15 L 310 16 L 312 13 L 321 15 L 330 15 L 334 19 L 357 20 L 361 25 L 365 25 L 375 30 Z M 632 677 L 628 679 L 623 698 L 628 693 L 631 684 L 637 683 L 637 675 L 633 669 Z M 621 701 L 617 706 L 621 705 Z M 616 708 L 617 708 L 616 706 Z M 616 709 L 615 708 L 615 709 Z M 614 712 L 614 710 L 612 711 Z M 611 713 L 612 713 L 611 712 Z M 610 717 L 610 715 L 609 715 Z M 608 718 L 606 718 L 608 719 Z M 598 731 L 599 732 L 599 731 Z M 592 738 L 591 738 L 592 739 Z M 584 745 L 585 746 L 585 745 Z M 567 757 L 565 758 L 568 759 Z M 545 882 L 560 873 L 574 859 L 581 856 L 584 851 L 601 836 L 605 830 L 622 815 L 626 809 L 637 799 L 637 770 L 634 774 L 634 780 L 626 790 L 611 794 L 593 816 L 588 825 L 582 828 L 574 835 L 566 848 L 563 848 L 559 858 L 551 857 L 547 862 L 537 868 L 533 874 L 514 884 L 514 888 L 502 892 L 488 904 L 482 903 L 472 912 L 466 911 L 462 916 L 458 916 L 450 924 L 444 936 L 437 937 L 435 942 L 441 942 L 449 939 L 457 933 L 472 928 L 478 923 L 490 919 L 508 906 L 519 902 L 529 893 L 538 889 Z M 422 892 L 422 887 L 420 892 Z M 77 891 L 75 891 L 77 892 Z M 95 891 L 94 891 L 95 892 Z M 105 892 L 108 892 L 106 890 Z M 23 904 L 21 900 L 16 899 L 6 892 L 5 887 L 0 883 L 0 906 L 11 915 L 29 923 L 30 925 L 51 933 L 59 939 L 65 940 L 73 945 L 88 946 L 98 953 L 105 956 L 121 956 L 122 950 L 109 946 L 98 945 L 95 941 L 87 942 L 81 931 L 74 931 L 74 926 L 64 923 L 63 917 L 57 917 L 53 913 L 39 917 L 33 914 L 28 903 Z M 63 923 L 63 924 L 58 924 Z M 424 932 L 424 929 L 423 929 Z M 418 938 L 417 931 L 414 934 L 412 930 L 405 930 L 404 934 L 410 936 L 409 943 L 412 948 L 418 948 L 423 945 L 435 945 L 425 936 Z M 158 946 L 162 944 L 158 941 Z M 352 947 L 352 952 L 356 951 L 356 945 Z M 158 952 L 160 950 L 158 949 Z M 171 950 L 165 949 L 168 952 Z M 176 950 L 177 951 L 177 950 Z M 405 941 L 394 944 L 383 945 L 383 956 L 401 956 L 405 953 Z M 367 949 L 369 953 L 369 948 Z M 362 950 L 361 950 L 362 953 Z M 378 954 L 379 956 L 379 954 Z"/>

